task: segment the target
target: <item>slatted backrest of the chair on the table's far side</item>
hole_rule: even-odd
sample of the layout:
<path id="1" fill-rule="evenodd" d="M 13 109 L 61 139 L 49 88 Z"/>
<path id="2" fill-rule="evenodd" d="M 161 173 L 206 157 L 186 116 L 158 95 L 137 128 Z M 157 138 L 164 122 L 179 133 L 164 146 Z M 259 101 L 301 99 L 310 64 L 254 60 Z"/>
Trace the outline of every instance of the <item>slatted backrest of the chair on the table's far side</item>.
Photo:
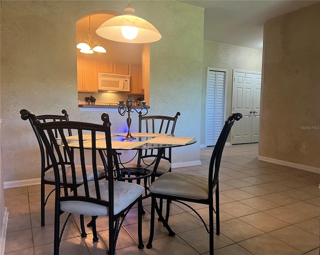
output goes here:
<path id="1" fill-rule="evenodd" d="M 177 112 L 173 117 L 161 115 L 142 116 L 141 112 L 139 112 L 139 132 L 173 135 L 178 116 L 180 116 L 179 112 Z M 140 159 L 142 158 L 150 158 L 156 156 L 157 150 L 144 150 L 143 154 L 142 151 L 139 151 L 138 164 L 140 163 Z M 165 159 L 171 163 L 171 148 L 165 150 L 161 157 L 162 159 Z"/>

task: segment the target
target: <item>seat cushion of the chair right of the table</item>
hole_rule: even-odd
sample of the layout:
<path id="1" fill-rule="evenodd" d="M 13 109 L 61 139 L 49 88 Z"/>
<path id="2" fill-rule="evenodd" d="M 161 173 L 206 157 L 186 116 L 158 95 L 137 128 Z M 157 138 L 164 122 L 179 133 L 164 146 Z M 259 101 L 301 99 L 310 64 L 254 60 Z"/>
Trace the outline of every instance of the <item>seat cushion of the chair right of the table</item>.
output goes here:
<path id="1" fill-rule="evenodd" d="M 182 198 L 208 199 L 208 179 L 174 172 L 165 173 L 150 185 L 149 191 Z"/>

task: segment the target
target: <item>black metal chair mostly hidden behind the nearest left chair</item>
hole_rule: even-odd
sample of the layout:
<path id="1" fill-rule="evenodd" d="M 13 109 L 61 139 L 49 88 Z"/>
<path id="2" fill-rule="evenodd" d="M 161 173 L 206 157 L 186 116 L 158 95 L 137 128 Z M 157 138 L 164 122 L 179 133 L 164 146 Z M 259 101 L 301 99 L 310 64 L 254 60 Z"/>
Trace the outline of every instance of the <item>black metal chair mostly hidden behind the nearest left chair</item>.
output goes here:
<path id="1" fill-rule="evenodd" d="M 22 109 L 20 111 L 21 118 L 24 116 L 24 113 L 27 113 L 28 111 L 25 109 Z M 59 121 L 69 121 L 68 114 L 66 110 L 62 110 L 61 113 L 63 115 L 54 115 L 54 114 L 44 114 L 44 115 L 38 115 L 36 116 L 36 119 L 39 120 L 40 122 L 59 122 Z M 50 195 L 54 192 L 54 188 L 49 192 L 49 194 L 45 197 L 45 185 L 51 185 L 54 187 L 55 185 L 55 179 L 54 179 L 54 172 L 52 168 L 52 164 L 49 160 L 49 155 L 47 154 L 47 151 L 45 150 L 43 146 L 43 142 L 41 140 L 40 135 L 38 134 L 37 130 L 35 129 L 34 125 L 32 124 L 31 119 L 29 119 L 31 127 L 33 129 L 33 132 L 35 134 L 35 137 L 37 139 L 39 149 L 40 149 L 40 157 L 41 157 L 41 176 L 40 176 L 40 206 L 41 206 L 41 226 L 45 225 L 45 205 L 47 203 L 47 200 L 49 199 Z M 72 132 L 70 129 L 65 130 L 66 135 L 71 136 Z M 58 133 L 57 130 L 54 130 L 54 137 L 58 138 Z M 80 169 L 77 169 L 77 172 L 79 172 Z M 89 172 L 88 172 L 89 173 Z M 70 169 L 66 172 L 67 176 L 67 183 L 71 183 L 71 171 Z M 98 166 L 98 176 L 99 178 L 104 178 L 105 176 L 105 170 L 104 166 Z M 88 180 L 93 180 L 92 177 L 92 171 L 88 174 L 87 176 Z M 81 182 L 79 180 L 79 182 Z M 65 186 L 65 188 L 68 188 L 68 185 Z M 81 222 L 81 229 L 83 230 L 82 236 L 85 237 L 85 231 L 84 231 L 84 223 L 83 223 L 83 215 L 80 216 L 80 222 Z"/>

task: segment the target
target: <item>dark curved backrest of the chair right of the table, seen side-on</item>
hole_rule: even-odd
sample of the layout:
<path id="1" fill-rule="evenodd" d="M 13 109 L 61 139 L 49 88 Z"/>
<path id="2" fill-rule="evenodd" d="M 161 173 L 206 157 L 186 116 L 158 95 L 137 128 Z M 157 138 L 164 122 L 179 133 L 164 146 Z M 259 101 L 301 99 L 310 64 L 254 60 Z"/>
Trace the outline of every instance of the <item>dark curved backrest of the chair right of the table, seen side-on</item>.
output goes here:
<path id="1" fill-rule="evenodd" d="M 238 121 L 242 118 L 241 113 L 232 113 L 227 120 L 224 122 L 224 126 L 221 130 L 221 133 L 219 135 L 218 140 L 216 141 L 216 144 L 214 146 L 210 165 L 209 165 L 209 192 L 212 192 L 212 188 L 217 184 L 218 182 L 218 174 L 219 174 L 219 168 L 220 168 L 220 162 L 221 162 L 221 156 L 224 148 L 225 141 L 230 133 L 231 127 L 234 123 L 234 121 Z"/>

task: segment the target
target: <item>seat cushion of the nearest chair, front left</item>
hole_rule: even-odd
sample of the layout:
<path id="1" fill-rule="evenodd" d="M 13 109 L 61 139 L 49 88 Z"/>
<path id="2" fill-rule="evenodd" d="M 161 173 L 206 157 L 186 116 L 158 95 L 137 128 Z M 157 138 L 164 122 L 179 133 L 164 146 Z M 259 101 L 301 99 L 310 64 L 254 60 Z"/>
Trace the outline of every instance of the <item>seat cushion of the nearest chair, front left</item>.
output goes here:
<path id="1" fill-rule="evenodd" d="M 96 198 L 94 182 L 88 182 L 88 186 L 91 197 Z M 100 180 L 99 187 L 101 200 L 108 201 L 108 181 Z M 140 185 L 117 181 L 113 182 L 113 190 L 114 214 L 120 213 L 144 192 L 144 188 Z M 84 196 L 83 185 L 77 188 L 77 194 L 78 196 Z M 82 201 L 60 202 L 60 209 L 63 212 L 91 216 L 107 216 L 109 213 L 108 207 Z"/>

